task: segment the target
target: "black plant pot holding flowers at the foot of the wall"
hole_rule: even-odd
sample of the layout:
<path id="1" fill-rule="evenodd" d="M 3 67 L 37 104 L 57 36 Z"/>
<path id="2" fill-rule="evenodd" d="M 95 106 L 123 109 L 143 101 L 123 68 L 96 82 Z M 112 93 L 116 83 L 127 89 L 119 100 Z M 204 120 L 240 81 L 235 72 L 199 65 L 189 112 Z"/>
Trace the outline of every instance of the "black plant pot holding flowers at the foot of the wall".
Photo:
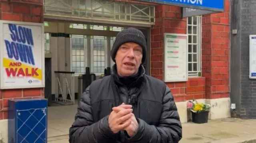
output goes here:
<path id="1" fill-rule="evenodd" d="M 208 123 L 208 111 L 201 112 L 191 112 L 192 113 L 192 122 L 193 123 Z"/>

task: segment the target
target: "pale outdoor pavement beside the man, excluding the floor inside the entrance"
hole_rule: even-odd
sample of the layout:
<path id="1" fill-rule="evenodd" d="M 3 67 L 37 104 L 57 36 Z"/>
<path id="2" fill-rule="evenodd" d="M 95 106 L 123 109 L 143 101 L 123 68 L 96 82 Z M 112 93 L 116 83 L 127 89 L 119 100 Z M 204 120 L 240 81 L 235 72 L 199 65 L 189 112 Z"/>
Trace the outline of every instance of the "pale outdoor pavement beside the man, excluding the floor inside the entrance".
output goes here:
<path id="1" fill-rule="evenodd" d="M 182 127 L 180 143 L 244 143 L 256 140 L 256 119 L 216 119 L 206 124 L 183 123 Z M 50 137 L 48 143 L 68 143 L 68 135 Z"/>

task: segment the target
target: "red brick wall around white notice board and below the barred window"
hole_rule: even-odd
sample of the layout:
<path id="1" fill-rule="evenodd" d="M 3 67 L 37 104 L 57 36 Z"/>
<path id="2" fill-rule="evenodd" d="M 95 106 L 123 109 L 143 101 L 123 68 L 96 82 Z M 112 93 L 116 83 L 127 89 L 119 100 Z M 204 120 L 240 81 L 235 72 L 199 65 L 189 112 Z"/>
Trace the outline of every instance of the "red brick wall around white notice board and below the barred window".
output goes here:
<path id="1" fill-rule="evenodd" d="M 164 77 L 164 33 L 186 34 L 186 18 L 182 18 L 177 6 L 156 6 L 156 22 L 151 28 L 151 75 Z M 205 98 L 205 78 L 189 78 L 188 82 L 168 82 L 176 102 Z"/>

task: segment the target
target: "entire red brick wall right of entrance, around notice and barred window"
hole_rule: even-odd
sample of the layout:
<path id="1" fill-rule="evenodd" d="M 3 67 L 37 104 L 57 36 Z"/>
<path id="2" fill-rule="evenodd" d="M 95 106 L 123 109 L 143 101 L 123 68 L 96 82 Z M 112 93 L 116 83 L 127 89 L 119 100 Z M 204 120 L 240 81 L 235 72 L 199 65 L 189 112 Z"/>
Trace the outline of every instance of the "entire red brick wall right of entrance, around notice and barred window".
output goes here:
<path id="1" fill-rule="evenodd" d="M 186 18 L 177 6 L 156 6 L 151 28 L 151 75 L 163 80 L 164 33 L 186 33 Z M 202 77 L 166 83 L 176 102 L 229 97 L 229 0 L 225 12 L 202 18 Z"/>

